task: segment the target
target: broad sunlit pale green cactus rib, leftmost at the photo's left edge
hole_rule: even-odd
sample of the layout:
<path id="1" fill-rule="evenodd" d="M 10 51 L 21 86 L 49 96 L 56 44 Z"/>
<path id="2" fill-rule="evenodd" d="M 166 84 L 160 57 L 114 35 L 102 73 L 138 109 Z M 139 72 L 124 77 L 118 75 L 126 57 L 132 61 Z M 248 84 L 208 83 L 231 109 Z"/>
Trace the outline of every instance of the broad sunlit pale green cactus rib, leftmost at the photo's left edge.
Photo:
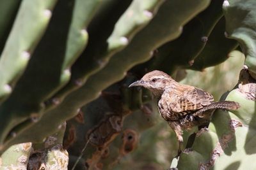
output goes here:
<path id="1" fill-rule="evenodd" d="M 44 34 L 56 0 L 24 0 L 0 59 L 0 101 L 12 92 Z M 28 11 L 28 9 L 31 9 Z M 26 24 L 24 24 L 26 23 Z"/>

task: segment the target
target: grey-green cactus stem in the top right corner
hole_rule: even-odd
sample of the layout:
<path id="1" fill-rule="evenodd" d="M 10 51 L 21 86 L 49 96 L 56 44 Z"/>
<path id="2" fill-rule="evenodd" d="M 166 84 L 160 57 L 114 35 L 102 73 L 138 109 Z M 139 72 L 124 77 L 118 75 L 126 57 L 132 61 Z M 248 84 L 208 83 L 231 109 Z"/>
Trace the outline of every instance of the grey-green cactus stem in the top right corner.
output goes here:
<path id="1" fill-rule="evenodd" d="M 253 73 L 256 73 L 255 6 L 254 0 L 226 0 L 223 3 L 227 37 L 239 42 L 246 56 L 245 64 Z"/>

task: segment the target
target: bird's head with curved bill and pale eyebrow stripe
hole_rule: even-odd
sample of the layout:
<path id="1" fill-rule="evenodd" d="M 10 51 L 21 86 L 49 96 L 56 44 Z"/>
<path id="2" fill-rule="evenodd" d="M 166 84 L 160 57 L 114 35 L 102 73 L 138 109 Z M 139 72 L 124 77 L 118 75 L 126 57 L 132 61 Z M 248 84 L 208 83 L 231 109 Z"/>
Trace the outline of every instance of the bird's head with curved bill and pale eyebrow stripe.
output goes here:
<path id="1" fill-rule="evenodd" d="M 170 83 L 173 81 L 175 80 L 173 80 L 168 74 L 164 73 L 163 71 L 155 70 L 145 74 L 141 80 L 135 81 L 129 85 L 129 87 L 145 87 L 155 96 L 160 97 L 164 92 L 164 88 L 170 85 Z"/>

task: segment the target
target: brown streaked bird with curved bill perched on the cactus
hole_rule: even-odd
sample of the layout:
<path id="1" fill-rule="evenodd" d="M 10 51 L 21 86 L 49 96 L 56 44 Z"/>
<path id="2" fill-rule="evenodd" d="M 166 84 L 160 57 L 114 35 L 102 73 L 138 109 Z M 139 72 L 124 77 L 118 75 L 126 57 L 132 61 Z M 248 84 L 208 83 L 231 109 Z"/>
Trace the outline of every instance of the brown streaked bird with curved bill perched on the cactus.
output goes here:
<path id="1" fill-rule="evenodd" d="M 214 101 L 212 94 L 173 80 L 163 71 L 154 70 L 134 81 L 129 87 L 144 87 L 156 97 L 160 115 L 168 122 L 179 141 L 177 156 L 182 152 L 183 131 L 192 127 L 207 127 L 214 110 L 237 110 L 234 101 Z"/>

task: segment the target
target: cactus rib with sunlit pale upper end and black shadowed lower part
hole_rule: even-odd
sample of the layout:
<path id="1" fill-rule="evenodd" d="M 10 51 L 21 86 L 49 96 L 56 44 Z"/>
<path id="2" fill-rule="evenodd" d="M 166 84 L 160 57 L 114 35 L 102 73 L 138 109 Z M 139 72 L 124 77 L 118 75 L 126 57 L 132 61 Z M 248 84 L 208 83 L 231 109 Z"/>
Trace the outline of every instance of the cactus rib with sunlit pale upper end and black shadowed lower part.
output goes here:
<path id="1" fill-rule="evenodd" d="M 72 67 L 72 77 L 70 82 L 54 97 L 62 100 L 67 96 L 67 94 L 81 87 L 90 75 L 106 66 L 108 60 L 111 59 L 116 52 L 125 48 L 129 41 L 131 41 L 134 34 L 148 24 L 152 17 L 154 17 L 154 13 L 156 13 L 157 8 L 162 3 L 163 0 L 132 1 L 129 8 L 127 8 L 119 20 L 116 23 L 112 23 L 115 19 L 115 17 L 113 18 L 113 15 L 118 16 L 118 13 L 120 13 L 120 10 L 123 8 L 120 7 L 120 4 L 122 4 L 121 6 L 124 6 L 123 2 L 118 2 L 116 7 L 114 7 L 118 8 L 118 13 L 111 13 L 111 16 L 107 15 L 108 18 L 105 19 L 109 22 L 106 23 L 107 25 L 113 27 L 115 24 L 115 28 L 109 38 L 104 39 L 104 37 L 108 36 L 108 32 L 111 30 L 106 30 L 106 32 L 95 32 L 95 30 L 92 30 L 94 31 L 92 32 L 93 40 L 89 41 L 88 48 L 86 48 L 84 53 Z M 106 25 L 100 25 L 100 27 L 106 27 Z M 99 34 L 102 34 L 102 38 L 100 39 Z M 99 47 L 95 48 L 95 45 Z"/>

